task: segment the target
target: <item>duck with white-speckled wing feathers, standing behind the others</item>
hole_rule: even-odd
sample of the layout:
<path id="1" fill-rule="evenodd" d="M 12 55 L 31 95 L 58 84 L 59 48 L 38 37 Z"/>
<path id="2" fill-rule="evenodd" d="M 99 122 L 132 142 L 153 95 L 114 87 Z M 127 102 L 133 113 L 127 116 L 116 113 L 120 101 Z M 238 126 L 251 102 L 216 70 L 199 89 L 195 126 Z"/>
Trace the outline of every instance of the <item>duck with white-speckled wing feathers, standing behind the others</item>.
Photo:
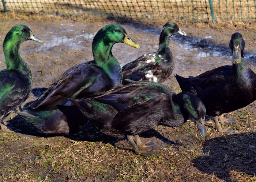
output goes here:
<path id="1" fill-rule="evenodd" d="M 172 74 L 175 67 L 175 56 L 169 46 L 170 37 L 174 34 L 187 36 L 187 33 L 173 22 L 163 25 L 157 52 L 140 56 L 122 67 L 123 84 L 134 81 L 153 81 L 163 83 Z"/>

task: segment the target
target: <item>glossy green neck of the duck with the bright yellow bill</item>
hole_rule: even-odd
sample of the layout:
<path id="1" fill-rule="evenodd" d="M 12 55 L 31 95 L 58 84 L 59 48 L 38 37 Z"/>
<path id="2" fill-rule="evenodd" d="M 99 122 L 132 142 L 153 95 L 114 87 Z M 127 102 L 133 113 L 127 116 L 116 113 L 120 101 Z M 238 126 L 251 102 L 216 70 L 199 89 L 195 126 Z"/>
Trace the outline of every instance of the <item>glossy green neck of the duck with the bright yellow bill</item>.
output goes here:
<path id="1" fill-rule="evenodd" d="M 123 72 L 117 59 L 112 54 L 114 43 L 104 39 L 93 40 L 93 58 L 95 64 L 101 67 L 113 82 L 113 86 L 122 83 Z"/>

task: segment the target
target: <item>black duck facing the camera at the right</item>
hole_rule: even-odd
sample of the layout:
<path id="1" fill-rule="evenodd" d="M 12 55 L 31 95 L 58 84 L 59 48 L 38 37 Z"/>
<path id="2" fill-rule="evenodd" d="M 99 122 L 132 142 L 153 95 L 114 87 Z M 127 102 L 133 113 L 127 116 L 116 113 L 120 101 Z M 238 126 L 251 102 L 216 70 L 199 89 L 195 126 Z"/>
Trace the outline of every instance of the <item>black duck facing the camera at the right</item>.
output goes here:
<path id="1" fill-rule="evenodd" d="M 189 78 L 176 75 L 181 90 L 198 96 L 206 106 L 206 114 L 213 116 L 216 130 L 227 134 L 233 133 L 233 128 L 221 127 L 223 114 L 243 108 L 256 99 L 256 74 L 245 63 L 245 41 L 241 33 L 232 34 L 229 47 L 232 66 L 221 66 Z"/>

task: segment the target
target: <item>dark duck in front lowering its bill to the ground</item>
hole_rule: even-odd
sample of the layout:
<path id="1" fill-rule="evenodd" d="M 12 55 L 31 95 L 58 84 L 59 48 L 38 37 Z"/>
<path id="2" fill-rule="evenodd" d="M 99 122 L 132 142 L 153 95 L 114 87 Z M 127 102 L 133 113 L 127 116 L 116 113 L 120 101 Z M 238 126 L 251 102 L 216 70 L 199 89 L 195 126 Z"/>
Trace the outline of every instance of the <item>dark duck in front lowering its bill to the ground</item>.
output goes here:
<path id="1" fill-rule="evenodd" d="M 65 107 L 79 108 L 83 118 L 88 118 L 99 132 L 118 139 L 127 138 L 139 155 L 155 152 L 140 150 L 147 145 L 142 145 L 138 134 L 158 125 L 179 127 L 187 122 L 189 115 L 195 118 L 200 135 L 207 136 L 203 102 L 188 92 L 175 94 L 161 83 L 138 81 L 99 96 L 69 100 L 73 106 L 59 106 L 65 115 L 71 116 Z"/>

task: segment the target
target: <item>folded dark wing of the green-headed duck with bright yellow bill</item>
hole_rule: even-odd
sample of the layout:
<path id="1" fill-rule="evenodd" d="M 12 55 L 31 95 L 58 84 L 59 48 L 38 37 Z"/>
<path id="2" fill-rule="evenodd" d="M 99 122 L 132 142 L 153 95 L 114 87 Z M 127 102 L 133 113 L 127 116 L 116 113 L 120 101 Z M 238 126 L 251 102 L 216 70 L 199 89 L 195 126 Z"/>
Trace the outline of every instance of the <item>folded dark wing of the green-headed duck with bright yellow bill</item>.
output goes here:
<path id="1" fill-rule="evenodd" d="M 109 80 L 109 81 L 108 81 Z M 112 87 L 107 74 L 90 62 L 78 64 L 60 76 L 30 107 L 38 110 L 54 110 L 65 105 L 67 98 L 82 98 L 102 94 Z"/>

